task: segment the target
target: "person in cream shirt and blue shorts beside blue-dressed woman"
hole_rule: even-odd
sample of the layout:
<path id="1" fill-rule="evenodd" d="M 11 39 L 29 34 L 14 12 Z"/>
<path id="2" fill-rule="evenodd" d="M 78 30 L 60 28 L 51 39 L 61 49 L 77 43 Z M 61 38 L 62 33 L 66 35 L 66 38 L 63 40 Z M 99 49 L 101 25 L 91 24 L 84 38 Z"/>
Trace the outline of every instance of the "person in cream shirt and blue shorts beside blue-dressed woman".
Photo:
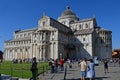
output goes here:
<path id="1" fill-rule="evenodd" d="M 78 66 L 80 66 L 81 68 L 81 80 L 85 80 L 85 76 L 86 76 L 86 67 L 87 67 L 87 63 L 85 62 L 85 59 L 83 59 Z"/>

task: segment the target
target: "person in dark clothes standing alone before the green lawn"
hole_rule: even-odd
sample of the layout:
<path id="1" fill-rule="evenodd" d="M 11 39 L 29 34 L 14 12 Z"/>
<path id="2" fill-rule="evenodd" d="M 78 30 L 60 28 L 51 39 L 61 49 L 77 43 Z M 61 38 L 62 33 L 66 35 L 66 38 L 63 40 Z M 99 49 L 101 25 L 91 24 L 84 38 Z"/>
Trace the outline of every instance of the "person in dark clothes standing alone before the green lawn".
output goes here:
<path id="1" fill-rule="evenodd" d="M 36 57 L 33 58 L 31 71 L 32 71 L 32 78 L 33 78 L 33 80 L 37 80 L 38 68 L 37 68 Z"/>

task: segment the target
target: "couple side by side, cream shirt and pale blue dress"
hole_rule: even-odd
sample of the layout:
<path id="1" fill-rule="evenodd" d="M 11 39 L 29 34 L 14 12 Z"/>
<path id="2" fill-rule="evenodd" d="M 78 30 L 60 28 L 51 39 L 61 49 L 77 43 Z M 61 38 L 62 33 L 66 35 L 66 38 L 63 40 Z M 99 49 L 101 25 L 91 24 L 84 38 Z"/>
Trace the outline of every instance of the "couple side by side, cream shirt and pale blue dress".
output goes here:
<path id="1" fill-rule="evenodd" d="M 89 63 L 87 63 L 85 59 L 82 59 L 78 66 L 81 68 L 81 80 L 85 80 L 85 77 L 89 78 L 90 80 L 94 80 L 95 65 L 92 59 L 89 60 Z"/>

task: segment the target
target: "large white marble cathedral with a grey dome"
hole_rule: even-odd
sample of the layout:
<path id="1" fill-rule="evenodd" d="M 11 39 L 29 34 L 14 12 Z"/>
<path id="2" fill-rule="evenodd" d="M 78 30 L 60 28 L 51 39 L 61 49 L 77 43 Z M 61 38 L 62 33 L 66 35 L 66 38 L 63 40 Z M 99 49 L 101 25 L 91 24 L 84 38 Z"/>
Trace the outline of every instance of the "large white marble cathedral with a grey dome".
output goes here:
<path id="1" fill-rule="evenodd" d="M 68 6 L 55 20 L 43 15 L 38 26 L 14 31 L 4 43 L 4 59 L 91 59 L 112 57 L 112 31 L 97 25 L 96 18 L 79 19 Z"/>

